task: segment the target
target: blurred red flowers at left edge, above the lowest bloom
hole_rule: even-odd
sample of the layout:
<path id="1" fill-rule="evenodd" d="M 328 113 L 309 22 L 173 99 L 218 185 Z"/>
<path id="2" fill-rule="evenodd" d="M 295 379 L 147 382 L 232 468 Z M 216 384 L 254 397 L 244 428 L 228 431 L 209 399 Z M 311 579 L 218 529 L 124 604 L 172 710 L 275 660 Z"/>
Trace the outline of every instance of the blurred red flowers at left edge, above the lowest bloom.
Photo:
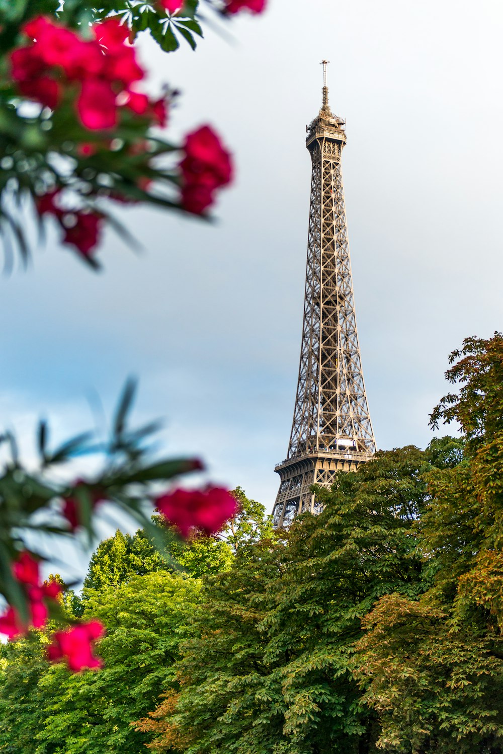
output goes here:
<path id="1" fill-rule="evenodd" d="M 38 562 L 26 550 L 14 562 L 12 572 L 28 598 L 30 620 L 29 624 L 26 624 L 21 620 L 18 611 L 9 606 L 5 615 L 0 618 L 0 633 L 5 633 L 9 639 L 25 635 L 31 626 L 43 628 L 49 615 L 47 600 L 56 600 L 62 592 L 56 581 L 41 583 Z"/>

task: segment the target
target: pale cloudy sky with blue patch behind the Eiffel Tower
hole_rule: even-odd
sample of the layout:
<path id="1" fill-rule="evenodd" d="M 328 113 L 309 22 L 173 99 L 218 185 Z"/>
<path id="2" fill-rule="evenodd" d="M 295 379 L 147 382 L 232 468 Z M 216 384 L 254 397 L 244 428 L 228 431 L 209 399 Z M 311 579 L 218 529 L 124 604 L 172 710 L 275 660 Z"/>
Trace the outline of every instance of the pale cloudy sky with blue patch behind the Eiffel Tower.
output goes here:
<path id="1" fill-rule="evenodd" d="M 50 241 L 0 280 L 2 425 L 26 436 L 93 421 L 138 375 L 137 417 L 166 418 L 166 450 L 201 455 L 212 480 L 273 505 L 297 382 L 310 160 L 326 57 L 346 118 L 343 176 L 356 316 L 377 446 L 431 439 L 447 355 L 501 329 L 500 0 L 270 0 L 263 17 L 206 32 L 194 54 L 148 40 L 151 90 L 182 91 L 169 133 L 209 122 L 237 177 L 208 225 L 123 215 L 87 271 Z"/>

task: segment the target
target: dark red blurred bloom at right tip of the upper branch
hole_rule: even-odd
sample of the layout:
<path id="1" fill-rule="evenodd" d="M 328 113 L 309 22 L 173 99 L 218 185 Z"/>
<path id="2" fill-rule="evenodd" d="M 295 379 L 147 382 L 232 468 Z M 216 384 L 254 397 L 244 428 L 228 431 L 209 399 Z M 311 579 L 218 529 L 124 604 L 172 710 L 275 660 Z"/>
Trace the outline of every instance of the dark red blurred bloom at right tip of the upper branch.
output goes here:
<path id="1" fill-rule="evenodd" d="M 181 205 L 200 215 L 213 202 L 213 192 L 232 179 L 230 154 L 212 127 L 202 126 L 187 134 L 180 163 Z"/>

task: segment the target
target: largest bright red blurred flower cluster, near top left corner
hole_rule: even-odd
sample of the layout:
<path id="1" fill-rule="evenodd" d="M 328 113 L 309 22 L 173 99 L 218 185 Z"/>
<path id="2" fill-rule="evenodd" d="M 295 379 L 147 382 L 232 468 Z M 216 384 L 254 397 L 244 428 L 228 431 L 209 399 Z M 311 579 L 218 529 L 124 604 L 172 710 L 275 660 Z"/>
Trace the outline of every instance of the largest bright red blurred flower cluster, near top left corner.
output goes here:
<path id="1" fill-rule="evenodd" d="M 26 23 L 23 32 L 33 41 L 11 53 L 11 74 L 24 97 L 56 109 L 75 89 L 78 117 L 90 130 L 116 127 L 120 107 L 166 123 L 165 101 L 132 89 L 145 72 L 127 44 L 129 29 L 117 19 L 93 26 L 90 40 L 43 16 Z"/>

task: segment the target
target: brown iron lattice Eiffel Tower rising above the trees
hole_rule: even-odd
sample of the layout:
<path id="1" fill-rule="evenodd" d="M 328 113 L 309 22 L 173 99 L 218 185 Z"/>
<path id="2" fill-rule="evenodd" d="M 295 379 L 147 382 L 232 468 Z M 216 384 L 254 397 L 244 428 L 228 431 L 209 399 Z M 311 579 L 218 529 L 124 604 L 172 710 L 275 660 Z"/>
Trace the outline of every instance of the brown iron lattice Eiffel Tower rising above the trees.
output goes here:
<path id="1" fill-rule="evenodd" d="M 281 478 L 273 510 L 277 527 L 306 510 L 319 513 L 311 486 L 330 487 L 337 472 L 356 470 L 376 449 L 358 347 L 340 167 L 345 121 L 328 106 L 327 63 L 322 61 L 322 109 L 306 126 L 312 160 L 306 293 L 288 456 L 275 468 Z"/>

